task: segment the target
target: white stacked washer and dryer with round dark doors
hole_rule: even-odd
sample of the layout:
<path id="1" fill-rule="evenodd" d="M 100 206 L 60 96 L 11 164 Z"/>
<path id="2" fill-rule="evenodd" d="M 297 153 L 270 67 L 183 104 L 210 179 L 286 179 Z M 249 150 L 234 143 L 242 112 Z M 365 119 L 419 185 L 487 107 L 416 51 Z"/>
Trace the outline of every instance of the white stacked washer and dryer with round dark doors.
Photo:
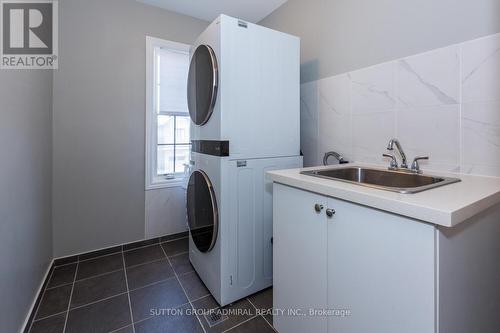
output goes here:
<path id="1" fill-rule="evenodd" d="M 191 49 L 189 259 L 220 305 L 272 285 L 272 183 L 299 168 L 297 37 L 221 15 Z"/>

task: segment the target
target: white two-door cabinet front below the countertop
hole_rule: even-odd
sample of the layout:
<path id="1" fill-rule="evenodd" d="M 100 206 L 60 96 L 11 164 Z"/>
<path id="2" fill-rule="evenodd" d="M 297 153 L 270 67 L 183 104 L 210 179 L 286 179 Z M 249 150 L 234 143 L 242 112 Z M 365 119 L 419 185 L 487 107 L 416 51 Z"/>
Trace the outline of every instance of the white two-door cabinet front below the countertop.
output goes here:
<path id="1" fill-rule="evenodd" d="M 435 331 L 434 226 L 276 183 L 273 198 L 278 332 Z"/>

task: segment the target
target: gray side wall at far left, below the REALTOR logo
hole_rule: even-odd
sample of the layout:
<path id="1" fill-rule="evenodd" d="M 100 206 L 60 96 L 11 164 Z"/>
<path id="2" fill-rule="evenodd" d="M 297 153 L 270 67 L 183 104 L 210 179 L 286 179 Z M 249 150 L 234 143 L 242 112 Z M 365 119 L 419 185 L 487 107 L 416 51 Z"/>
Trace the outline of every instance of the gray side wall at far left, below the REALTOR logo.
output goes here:
<path id="1" fill-rule="evenodd" d="M 52 71 L 0 70 L 0 331 L 17 332 L 52 256 Z"/>

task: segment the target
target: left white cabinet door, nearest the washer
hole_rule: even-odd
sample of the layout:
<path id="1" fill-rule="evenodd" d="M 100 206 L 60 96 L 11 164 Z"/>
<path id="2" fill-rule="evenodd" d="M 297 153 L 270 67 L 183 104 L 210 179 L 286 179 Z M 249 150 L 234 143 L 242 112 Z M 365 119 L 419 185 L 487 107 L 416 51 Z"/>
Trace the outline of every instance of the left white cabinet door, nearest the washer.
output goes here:
<path id="1" fill-rule="evenodd" d="M 316 204 L 324 208 L 316 212 Z M 309 316 L 309 309 L 327 305 L 326 204 L 323 196 L 274 184 L 273 320 L 278 332 L 327 331 L 326 317 Z"/>

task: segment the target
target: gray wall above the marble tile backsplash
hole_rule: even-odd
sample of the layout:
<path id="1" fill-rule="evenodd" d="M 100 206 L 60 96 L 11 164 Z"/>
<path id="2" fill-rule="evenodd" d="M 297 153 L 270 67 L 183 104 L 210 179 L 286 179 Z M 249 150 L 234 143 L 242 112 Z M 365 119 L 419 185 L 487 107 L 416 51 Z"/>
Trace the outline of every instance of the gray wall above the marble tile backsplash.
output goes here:
<path id="1" fill-rule="evenodd" d="M 260 24 L 301 37 L 301 81 L 500 31 L 499 0 L 289 0 Z"/>

